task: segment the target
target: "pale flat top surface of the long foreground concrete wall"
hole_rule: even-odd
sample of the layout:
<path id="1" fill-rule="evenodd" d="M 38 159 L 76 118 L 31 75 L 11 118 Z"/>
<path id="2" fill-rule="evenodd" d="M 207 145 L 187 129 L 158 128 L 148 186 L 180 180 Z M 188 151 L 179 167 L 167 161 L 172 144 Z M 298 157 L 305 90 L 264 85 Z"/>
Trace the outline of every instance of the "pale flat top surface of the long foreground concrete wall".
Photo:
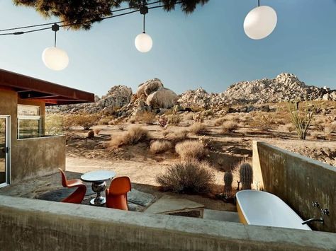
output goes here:
<path id="1" fill-rule="evenodd" d="M 167 233 L 167 235 L 162 235 L 162 238 L 169 238 L 169 236 L 172 237 L 172 234 L 174 234 L 185 235 L 186 238 L 199 238 L 200 240 L 215 239 L 219 243 L 228 241 L 237 245 L 239 244 L 242 247 L 249 247 L 253 243 L 254 245 L 264 247 L 264 250 L 269 250 L 269 247 L 274 247 L 276 250 L 281 250 L 281 247 L 284 247 L 286 250 L 296 250 L 296 248 L 305 250 L 336 249 L 335 233 L 265 226 L 245 226 L 240 223 L 162 214 L 145 214 L 82 204 L 47 202 L 38 199 L 0 196 L 1 211 L 4 212 L 3 214 L 7 214 L 8 212 L 8 214 L 26 215 L 27 217 L 34 214 L 35 221 L 38 221 L 38 217 L 43 216 L 48 216 L 48 218 L 60 218 L 62 216 L 62 218 L 68 218 L 69 220 L 77 219 L 78 228 L 89 221 L 102 224 L 103 227 L 99 228 L 101 231 L 104 228 L 106 230 L 106 228 L 112 225 L 128 226 Z M 6 224 L 6 222 L 0 222 L 1 224 Z M 25 222 L 19 222 L 19 226 L 17 227 L 20 227 L 20 224 L 24 226 Z M 99 235 L 99 233 L 97 234 Z M 133 241 L 137 243 L 137 238 L 139 237 L 134 236 L 134 238 L 135 240 Z M 174 247 L 170 248 L 174 249 Z"/>

